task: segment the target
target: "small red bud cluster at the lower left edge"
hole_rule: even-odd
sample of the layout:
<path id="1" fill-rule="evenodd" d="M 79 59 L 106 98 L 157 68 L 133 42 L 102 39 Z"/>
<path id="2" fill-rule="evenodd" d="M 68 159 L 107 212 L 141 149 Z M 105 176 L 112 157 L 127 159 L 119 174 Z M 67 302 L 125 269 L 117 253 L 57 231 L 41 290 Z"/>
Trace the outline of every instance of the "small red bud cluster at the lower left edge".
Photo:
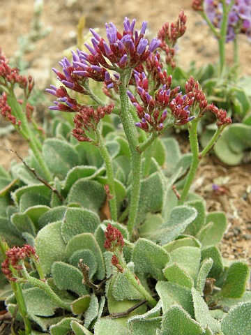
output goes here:
<path id="1" fill-rule="evenodd" d="M 20 261 L 26 257 L 33 258 L 33 260 L 38 262 L 38 255 L 36 255 L 33 246 L 25 244 L 22 248 L 14 247 L 6 251 L 6 259 L 1 263 L 1 269 L 8 281 L 17 281 L 17 278 L 13 277 L 13 271 L 11 271 L 10 266 L 16 270 L 22 270 L 23 267 L 20 265 Z"/>

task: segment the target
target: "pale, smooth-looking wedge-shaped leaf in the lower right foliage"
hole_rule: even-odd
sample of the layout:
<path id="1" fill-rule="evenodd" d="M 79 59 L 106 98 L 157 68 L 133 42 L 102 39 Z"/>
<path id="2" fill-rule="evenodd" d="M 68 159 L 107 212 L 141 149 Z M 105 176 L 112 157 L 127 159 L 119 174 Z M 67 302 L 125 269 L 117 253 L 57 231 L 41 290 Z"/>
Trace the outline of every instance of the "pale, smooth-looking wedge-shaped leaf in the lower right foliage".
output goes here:
<path id="1" fill-rule="evenodd" d="M 200 249 L 195 246 L 182 246 L 174 249 L 170 255 L 172 262 L 176 262 L 178 266 L 187 271 L 196 283 L 201 260 Z"/>

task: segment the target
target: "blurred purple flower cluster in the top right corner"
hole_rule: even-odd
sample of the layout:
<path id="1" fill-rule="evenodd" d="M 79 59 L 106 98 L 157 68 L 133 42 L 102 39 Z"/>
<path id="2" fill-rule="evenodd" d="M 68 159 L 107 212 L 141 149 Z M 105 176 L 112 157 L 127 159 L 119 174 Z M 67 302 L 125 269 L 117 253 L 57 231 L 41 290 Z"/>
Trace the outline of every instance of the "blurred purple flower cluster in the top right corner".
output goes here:
<path id="1" fill-rule="evenodd" d="M 202 3 L 203 2 L 203 3 Z M 226 0 L 227 6 L 231 0 Z M 202 6 L 203 4 L 203 6 Z M 216 28 L 220 28 L 222 23 L 222 1 L 220 0 L 195 0 L 192 3 L 195 10 L 204 10 L 208 19 Z M 236 34 L 246 34 L 251 36 L 251 0 L 235 0 L 228 14 L 228 26 L 226 42 L 236 38 Z"/>

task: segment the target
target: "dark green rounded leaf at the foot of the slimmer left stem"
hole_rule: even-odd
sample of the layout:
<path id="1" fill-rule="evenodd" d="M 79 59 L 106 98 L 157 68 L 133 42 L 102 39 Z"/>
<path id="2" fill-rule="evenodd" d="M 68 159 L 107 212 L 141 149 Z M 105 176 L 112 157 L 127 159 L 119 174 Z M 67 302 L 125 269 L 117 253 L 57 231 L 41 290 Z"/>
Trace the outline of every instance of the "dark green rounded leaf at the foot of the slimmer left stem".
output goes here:
<path id="1" fill-rule="evenodd" d="M 79 179 L 70 188 L 67 201 L 98 212 L 105 201 L 105 190 L 98 181 Z"/>

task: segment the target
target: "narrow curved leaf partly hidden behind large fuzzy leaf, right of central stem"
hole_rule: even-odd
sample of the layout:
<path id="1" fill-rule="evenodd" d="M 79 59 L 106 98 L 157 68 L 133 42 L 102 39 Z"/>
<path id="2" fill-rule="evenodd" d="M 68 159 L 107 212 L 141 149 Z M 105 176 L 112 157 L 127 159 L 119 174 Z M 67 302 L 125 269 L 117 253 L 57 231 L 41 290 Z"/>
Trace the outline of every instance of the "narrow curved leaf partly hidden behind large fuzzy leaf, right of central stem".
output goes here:
<path id="1" fill-rule="evenodd" d="M 204 201 L 199 200 L 186 202 L 186 204 L 197 210 L 197 217 L 194 221 L 192 221 L 192 223 L 190 223 L 190 225 L 188 225 L 187 228 L 185 228 L 185 234 L 196 236 L 206 221 L 206 205 Z"/>

